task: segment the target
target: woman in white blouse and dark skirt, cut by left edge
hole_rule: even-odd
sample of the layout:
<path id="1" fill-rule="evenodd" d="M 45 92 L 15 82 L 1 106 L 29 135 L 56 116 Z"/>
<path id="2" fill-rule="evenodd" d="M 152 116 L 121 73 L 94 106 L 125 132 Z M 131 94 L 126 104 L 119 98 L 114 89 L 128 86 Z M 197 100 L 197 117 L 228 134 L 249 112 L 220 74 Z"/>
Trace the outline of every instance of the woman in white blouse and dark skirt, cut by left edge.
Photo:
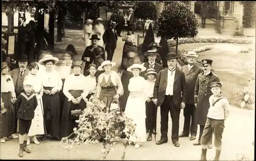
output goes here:
<path id="1" fill-rule="evenodd" d="M 1 143 L 5 143 L 4 137 L 11 136 L 14 132 L 14 108 L 16 101 L 14 84 L 11 75 L 8 74 L 9 66 L 6 62 L 1 64 Z"/>

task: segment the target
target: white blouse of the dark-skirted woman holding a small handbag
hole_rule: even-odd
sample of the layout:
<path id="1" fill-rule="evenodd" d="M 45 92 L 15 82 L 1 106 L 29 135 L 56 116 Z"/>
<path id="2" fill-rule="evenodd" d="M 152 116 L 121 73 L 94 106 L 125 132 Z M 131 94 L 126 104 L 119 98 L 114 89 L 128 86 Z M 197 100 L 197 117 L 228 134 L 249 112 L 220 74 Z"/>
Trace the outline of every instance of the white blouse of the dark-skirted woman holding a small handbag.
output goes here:
<path id="1" fill-rule="evenodd" d="M 86 100 L 87 95 L 89 94 L 89 87 L 87 84 L 86 76 L 80 74 L 79 76 L 75 76 L 74 74 L 70 74 L 65 82 L 63 87 L 63 94 L 71 101 L 74 97 L 69 93 L 69 90 L 82 90 L 81 94 L 83 100 Z"/>

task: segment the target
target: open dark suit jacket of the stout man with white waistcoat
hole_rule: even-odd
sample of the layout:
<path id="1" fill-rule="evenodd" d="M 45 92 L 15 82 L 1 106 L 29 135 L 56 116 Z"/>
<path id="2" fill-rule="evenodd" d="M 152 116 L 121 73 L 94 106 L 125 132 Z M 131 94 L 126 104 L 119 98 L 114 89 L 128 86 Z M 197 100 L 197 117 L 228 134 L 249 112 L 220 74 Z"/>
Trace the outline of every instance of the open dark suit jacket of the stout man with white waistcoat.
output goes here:
<path id="1" fill-rule="evenodd" d="M 161 70 L 156 78 L 154 87 L 154 99 L 158 99 L 157 106 L 162 105 L 167 87 L 168 68 Z M 186 102 L 186 79 L 185 74 L 176 68 L 174 75 L 174 104 L 176 108 L 180 108 L 181 102 Z"/>

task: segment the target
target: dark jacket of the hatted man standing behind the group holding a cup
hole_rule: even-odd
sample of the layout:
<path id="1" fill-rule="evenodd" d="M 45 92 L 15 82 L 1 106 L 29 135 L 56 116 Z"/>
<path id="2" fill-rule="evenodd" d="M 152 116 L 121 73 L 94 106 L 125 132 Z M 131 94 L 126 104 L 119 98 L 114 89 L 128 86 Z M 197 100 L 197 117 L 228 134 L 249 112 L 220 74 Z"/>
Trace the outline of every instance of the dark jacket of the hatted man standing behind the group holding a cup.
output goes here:
<path id="1" fill-rule="evenodd" d="M 103 53 L 104 53 L 104 54 L 102 54 L 102 56 L 101 56 L 102 59 L 103 59 L 103 60 L 106 60 L 104 48 L 103 48 L 102 46 L 99 46 L 99 45 L 98 45 L 98 47 L 100 47 L 101 50 L 102 50 Z M 91 51 L 92 49 L 93 49 L 93 45 L 87 46 L 86 49 L 84 49 L 84 52 L 83 52 L 83 55 L 82 55 L 82 61 L 83 61 L 83 62 L 84 62 L 83 58 L 86 58 L 86 57 L 89 57 L 89 58 L 90 58 L 90 61 L 89 61 L 89 62 L 85 61 L 85 62 L 86 62 L 86 66 L 84 66 L 84 69 L 86 69 L 86 70 L 88 69 L 89 65 L 93 63 L 93 61 L 94 61 L 94 59 L 95 59 L 95 56 L 94 56 L 93 52 Z"/>

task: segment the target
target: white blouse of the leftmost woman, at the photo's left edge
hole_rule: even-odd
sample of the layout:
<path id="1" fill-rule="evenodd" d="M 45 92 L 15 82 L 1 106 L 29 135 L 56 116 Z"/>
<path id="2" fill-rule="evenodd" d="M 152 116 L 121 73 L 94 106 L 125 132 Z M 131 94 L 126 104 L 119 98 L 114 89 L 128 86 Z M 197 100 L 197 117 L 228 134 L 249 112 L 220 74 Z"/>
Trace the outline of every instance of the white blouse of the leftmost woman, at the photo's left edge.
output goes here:
<path id="1" fill-rule="evenodd" d="M 11 92 L 12 98 L 16 98 L 13 80 L 9 74 L 1 74 L 1 93 L 3 92 Z"/>

